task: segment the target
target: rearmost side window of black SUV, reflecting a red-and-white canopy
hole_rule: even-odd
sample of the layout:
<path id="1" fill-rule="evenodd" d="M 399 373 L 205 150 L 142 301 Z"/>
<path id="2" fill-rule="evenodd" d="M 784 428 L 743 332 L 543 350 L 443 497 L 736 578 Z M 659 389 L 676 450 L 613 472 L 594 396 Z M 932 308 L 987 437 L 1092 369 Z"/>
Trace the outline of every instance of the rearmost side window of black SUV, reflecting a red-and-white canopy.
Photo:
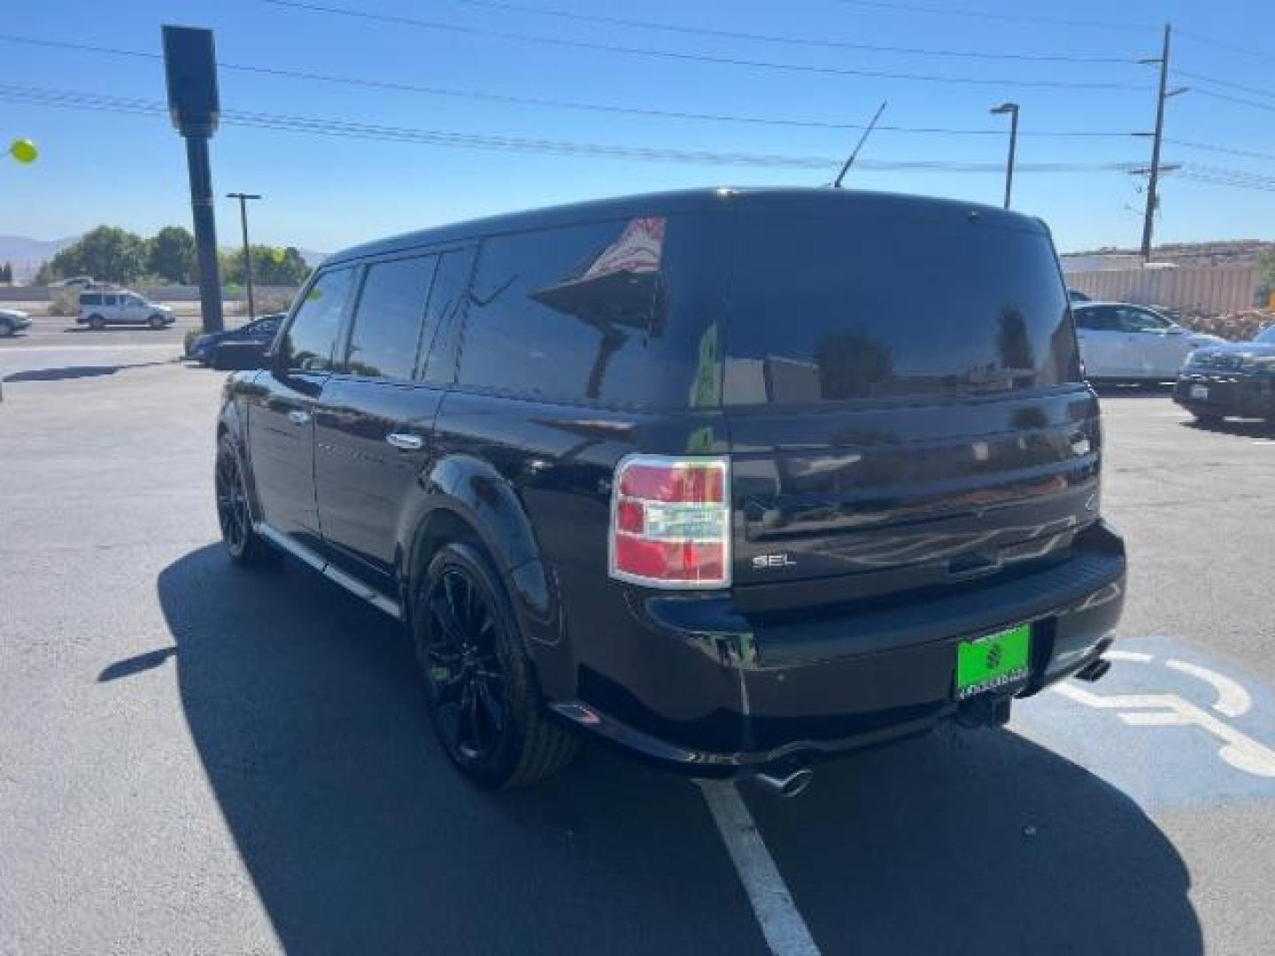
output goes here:
<path id="1" fill-rule="evenodd" d="M 617 405 L 717 404 L 724 250 L 652 214 L 483 242 L 462 385 Z"/>

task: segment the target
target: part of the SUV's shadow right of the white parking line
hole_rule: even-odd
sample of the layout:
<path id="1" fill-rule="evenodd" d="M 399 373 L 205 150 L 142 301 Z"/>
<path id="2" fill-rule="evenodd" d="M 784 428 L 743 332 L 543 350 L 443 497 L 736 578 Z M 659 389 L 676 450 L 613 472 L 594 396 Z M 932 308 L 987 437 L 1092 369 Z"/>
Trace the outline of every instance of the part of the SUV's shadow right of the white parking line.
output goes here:
<path id="1" fill-rule="evenodd" d="M 815 939 L 845 952 L 1204 951 L 1169 839 L 1009 730 L 943 728 L 748 804 Z"/>

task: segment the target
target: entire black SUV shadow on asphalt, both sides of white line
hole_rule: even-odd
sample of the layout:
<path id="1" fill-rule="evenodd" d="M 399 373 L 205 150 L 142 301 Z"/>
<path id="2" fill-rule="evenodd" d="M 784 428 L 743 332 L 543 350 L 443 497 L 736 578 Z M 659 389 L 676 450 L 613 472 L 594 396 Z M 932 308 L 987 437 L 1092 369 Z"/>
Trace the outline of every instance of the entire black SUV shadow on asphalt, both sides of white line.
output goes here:
<path id="1" fill-rule="evenodd" d="M 287 951 L 765 951 L 687 781 L 590 748 L 534 789 L 477 790 L 389 618 L 219 546 L 157 586 L 194 743 Z M 1012 733 L 937 733 L 747 802 L 824 953 L 1201 951 L 1168 839 Z"/>

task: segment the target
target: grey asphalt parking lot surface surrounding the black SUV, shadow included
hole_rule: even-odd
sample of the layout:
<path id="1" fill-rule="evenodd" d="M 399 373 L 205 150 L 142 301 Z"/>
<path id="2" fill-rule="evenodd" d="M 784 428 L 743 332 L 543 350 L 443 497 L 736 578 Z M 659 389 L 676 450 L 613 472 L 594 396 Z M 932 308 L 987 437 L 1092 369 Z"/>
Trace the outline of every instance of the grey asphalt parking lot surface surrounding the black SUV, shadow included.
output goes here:
<path id="1" fill-rule="evenodd" d="M 1112 674 L 745 788 L 731 834 L 603 751 L 463 784 L 388 618 L 221 553 L 178 343 L 0 342 L 0 951 L 1270 950 L 1275 428 L 1105 395 Z"/>

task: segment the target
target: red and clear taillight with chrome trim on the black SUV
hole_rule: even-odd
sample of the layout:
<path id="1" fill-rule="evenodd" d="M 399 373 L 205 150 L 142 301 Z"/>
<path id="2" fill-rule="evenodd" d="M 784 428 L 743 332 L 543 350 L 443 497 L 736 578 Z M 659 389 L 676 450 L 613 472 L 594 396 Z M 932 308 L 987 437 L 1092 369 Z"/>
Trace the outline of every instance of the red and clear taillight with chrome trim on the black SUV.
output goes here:
<path id="1" fill-rule="evenodd" d="M 731 584 L 729 467 L 630 455 L 611 491 L 611 576 L 652 588 Z"/>

